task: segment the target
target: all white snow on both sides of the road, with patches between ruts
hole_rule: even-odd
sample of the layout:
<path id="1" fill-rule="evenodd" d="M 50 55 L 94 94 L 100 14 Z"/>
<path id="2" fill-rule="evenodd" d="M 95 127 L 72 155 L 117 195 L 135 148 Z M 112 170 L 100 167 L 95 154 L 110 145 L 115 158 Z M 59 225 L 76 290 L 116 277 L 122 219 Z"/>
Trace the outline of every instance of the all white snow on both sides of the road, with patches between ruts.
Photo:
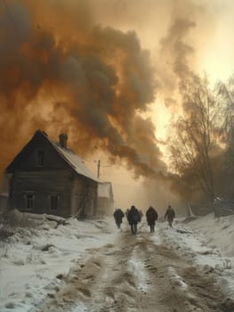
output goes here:
<path id="1" fill-rule="evenodd" d="M 165 245 L 201 272 L 214 275 L 222 284 L 227 296 L 234 298 L 234 216 L 214 218 L 213 214 L 185 222 L 175 220 L 173 228 L 166 222 L 157 223 L 156 232 L 149 239 L 157 245 Z M 119 235 L 129 231 L 123 225 L 119 231 L 113 218 L 78 221 L 69 218 L 66 226 L 58 226 L 46 218 L 37 227 L 20 228 L 16 234 L 2 242 L 0 253 L 0 311 L 36 312 L 48 297 L 58 290 L 69 270 L 75 264 L 82 266 L 92 256 L 93 249 L 118 241 Z M 145 221 L 139 227 L 141 233 L 149 233 Z M 128 261 L 128 269 L 136 276 L 138 287 L 147 290 L 147 272 L 137 255 Z M 186 283 L 168 267 L 170 283 L 179 291 L 190 294 Z M 57 277 L 56 277 L 57 276 Z M 72 312 L 85 312 L 82 303 Z"/>

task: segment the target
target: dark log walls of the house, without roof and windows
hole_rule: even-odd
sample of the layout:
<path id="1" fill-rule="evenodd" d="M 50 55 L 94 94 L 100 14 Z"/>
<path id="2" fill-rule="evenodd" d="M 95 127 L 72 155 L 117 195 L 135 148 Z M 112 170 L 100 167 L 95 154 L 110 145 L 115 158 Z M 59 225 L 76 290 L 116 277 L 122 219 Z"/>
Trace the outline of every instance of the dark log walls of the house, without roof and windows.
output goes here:
<path id="1" fill-rule="evenodd" d="M 44 151 L 42 167 L 36 166 L 37 150 Z M 36 135 L 19 155 L 8 169 L 12 173 L 9 193 L 12 208 L 26 211 L 26 195 L 34 193 L 32 213 L 67 218 L 75 215 L 85 202 L 85 215 L 95 215 L 97 182 L 77 174 L 43 135 Z M 50 209 L 50 195 L 59 196 L 58 209 Z"/>

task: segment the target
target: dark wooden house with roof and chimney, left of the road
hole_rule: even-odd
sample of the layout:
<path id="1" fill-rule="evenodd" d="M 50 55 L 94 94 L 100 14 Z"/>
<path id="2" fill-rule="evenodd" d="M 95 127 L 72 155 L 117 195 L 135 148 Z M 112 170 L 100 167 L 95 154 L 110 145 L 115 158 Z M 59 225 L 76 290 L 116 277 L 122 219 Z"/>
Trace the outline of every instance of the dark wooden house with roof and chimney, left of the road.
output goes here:
<path id="1" fill-rule="evenodd" d="M 67 146 L 37 130 L 6 168 L 10 207 L 68 218 L 94 216 L 101 182 Z"/>

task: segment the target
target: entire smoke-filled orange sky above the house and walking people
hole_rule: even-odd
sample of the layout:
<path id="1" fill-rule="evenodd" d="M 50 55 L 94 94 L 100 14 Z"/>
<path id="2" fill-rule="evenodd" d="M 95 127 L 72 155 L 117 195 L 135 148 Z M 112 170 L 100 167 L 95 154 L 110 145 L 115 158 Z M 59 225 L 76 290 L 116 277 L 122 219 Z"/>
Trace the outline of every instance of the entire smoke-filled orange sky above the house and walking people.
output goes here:
<path id="1" fill-rule="evenodd" d="M 0 169 L 37 128 L 54 140 L 67 132 L 94 171 L 101 159 L 116 206 L 179 207 L 162 140 L 184 78 L 232 75 L 233 9 L 228 0 L 1 1 Z"/>

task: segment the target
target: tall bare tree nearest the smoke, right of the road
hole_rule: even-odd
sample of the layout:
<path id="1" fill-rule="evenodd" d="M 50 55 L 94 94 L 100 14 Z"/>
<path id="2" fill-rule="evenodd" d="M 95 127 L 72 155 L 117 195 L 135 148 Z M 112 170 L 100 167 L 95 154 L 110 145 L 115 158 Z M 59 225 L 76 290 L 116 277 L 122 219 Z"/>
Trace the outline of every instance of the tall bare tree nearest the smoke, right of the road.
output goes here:
<path id="1" fill-rule="evenodd" d="M 172 125 L 169 138 L 171 164 L 214 201 L 212 153 L 218 136 L 219 103 L 206 79 L 187 82 L 182 93 L 183 113 Z"/>

